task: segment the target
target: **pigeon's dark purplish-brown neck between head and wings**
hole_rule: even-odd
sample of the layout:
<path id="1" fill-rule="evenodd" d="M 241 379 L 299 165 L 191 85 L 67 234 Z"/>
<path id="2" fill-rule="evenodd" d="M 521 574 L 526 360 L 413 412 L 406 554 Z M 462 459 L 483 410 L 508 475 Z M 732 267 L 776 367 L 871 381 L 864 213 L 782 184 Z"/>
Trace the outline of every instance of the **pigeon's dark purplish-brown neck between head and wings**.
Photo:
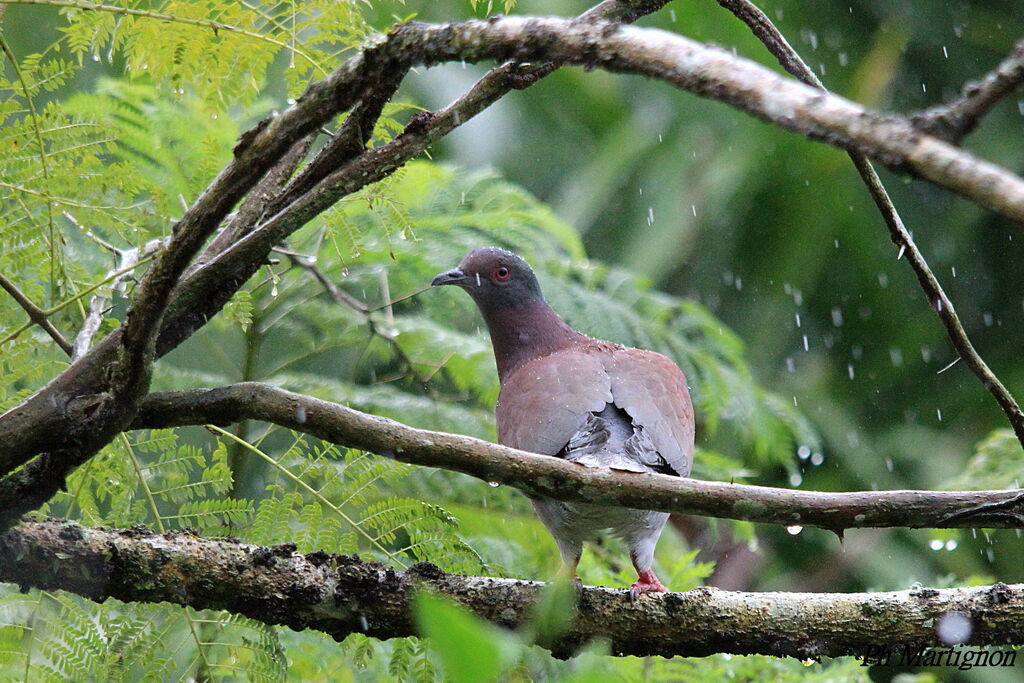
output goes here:
<path id="1" fill-rule="evenodd" d="M 524 362 L 587 339 L 544 301 L 482 312 L 495 348 L 498 378 L 502 381 Z"/>

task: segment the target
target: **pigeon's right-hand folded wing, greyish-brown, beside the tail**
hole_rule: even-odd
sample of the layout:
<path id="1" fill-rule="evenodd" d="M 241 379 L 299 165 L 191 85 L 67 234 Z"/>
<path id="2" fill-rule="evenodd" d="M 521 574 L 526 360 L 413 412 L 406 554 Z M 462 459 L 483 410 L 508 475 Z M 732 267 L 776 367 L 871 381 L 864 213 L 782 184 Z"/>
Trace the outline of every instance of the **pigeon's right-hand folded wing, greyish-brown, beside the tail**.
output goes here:
<path id="1" fill-rule="evenodd" d="M 616 408 L 650 437 L 654 449 L 680 476 L 693 463 L 693 405 L 686 378 L 654 351 L 617 347 L 603 355 Z"/>

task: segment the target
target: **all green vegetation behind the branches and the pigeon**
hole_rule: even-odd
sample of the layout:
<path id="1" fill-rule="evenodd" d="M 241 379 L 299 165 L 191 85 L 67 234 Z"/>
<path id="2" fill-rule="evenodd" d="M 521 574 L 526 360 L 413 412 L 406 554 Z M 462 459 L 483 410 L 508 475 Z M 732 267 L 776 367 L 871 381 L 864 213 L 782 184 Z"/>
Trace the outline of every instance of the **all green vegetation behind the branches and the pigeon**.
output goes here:
<path id="1" fill-rule="evenodd" d="M 1024 35 L 1015 4 L 762 6 L 830 89 L 908 113 L 950 98 L 1010 50 Z M 109 291 L 115 261 L 104 245 L 129 249 L 167 234 L 238 134 L 309 79 L 394 20 L 503 9 L 461 0 L 138 7 L 178 20 L 28 5 L 2 15 L 0 271 L 69 337 L 94 294 L 111 299 L 103 330 L 123 315 L 131 281 Z M 521 0 L 510 9 L 585 7 Z M 181 20 L 208 18 L 247 33 Z M 710 0 L 671 3 L 641 24 L 771 63 Z M 375 140 L 418 109 L 443 105 L 483 70 L 415 75 Z M 1020 97 L 966 143 L 1017 170 Z M 884 179 L 979 350 L 1011 390 L 1020 387 L 1024 273 L 1014 264 L 1024 239 L 927 183 Z M 578 329 L 680 362 L 700 419 L 695 476 L 827 490 L 1018 485 L 1020 450 L 992 433 L 1002 415 L 963 366 L 939 374 L 955 354 L 845 154 L 664 84 L 597 71 L 562 70 L 513 93 L 429 160 L 310 223 L 225 314 L 157 365 L 155 388 L 269 381 L 493 438 L 497 381 L 467 297 L 428 291 L 369 314 L 353 305 L 415 292 L 481 244 L 530 260 Z M 333 298 L 316 274 L 348 297 Z M 0 297 L 0 409 L 67 362 L 24 323 Z M 979 442 L 982 455 L 971 460 Z M 516 492 L 258 424 L 118 439 L 43 512 L 529 579 L 549 577 L 557 556 Z M 625 559 L 617 541 L 603 539 L 585 553 L 583 579 L 627 585 Z M 1014 531 L 857 530 L 840 543 L 816 529 L 693 519 L 665 535 L 657 563 L 673 590 L 846 591 L 1020 582 L 1022 559 Z M 458 679 L 453 653 L 472 649 L 493 652 L 484 659 L 508 680 L 864 675 L 855 661 L 613 660 L 600 645 L 562 663 L 529 646 L 528 635 L 445 609 L 423 606 L 425 631 L 459 625 L 461 638 L 339 645 L 224 613 L 98 606 L 10 587 L 0 602 L 0 676 L 432 680 L 443 670 Z"/>

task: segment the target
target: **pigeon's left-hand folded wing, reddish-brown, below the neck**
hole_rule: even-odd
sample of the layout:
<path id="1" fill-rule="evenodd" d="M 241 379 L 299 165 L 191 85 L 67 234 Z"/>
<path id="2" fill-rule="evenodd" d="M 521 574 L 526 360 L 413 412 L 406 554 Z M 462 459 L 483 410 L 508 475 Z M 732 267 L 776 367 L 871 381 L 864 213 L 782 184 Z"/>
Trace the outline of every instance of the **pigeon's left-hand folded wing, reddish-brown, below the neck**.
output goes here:
<path id="1" fill-rule="evenodd" d="M 504 445 L 557 455 L 611 402 L 611 380 L 597 354 L 556 351 L 523 364 L 502 383 L 495 414 Z"/>

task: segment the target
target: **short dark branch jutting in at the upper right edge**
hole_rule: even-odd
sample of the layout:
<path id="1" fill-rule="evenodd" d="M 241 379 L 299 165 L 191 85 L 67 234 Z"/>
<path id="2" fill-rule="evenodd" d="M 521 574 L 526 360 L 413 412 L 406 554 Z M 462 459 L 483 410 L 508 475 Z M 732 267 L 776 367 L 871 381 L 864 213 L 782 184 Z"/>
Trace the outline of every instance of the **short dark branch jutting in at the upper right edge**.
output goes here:
<path id="1" fill-rule="evenodd" d="M 968 83 L 957 99 L 915 114 L 910 120 L 926 133 L 957 144 L 1000 99 L 1022 83 L 1024 40 L 1019 41 L 1013 52 L 981 80 Z"/>

